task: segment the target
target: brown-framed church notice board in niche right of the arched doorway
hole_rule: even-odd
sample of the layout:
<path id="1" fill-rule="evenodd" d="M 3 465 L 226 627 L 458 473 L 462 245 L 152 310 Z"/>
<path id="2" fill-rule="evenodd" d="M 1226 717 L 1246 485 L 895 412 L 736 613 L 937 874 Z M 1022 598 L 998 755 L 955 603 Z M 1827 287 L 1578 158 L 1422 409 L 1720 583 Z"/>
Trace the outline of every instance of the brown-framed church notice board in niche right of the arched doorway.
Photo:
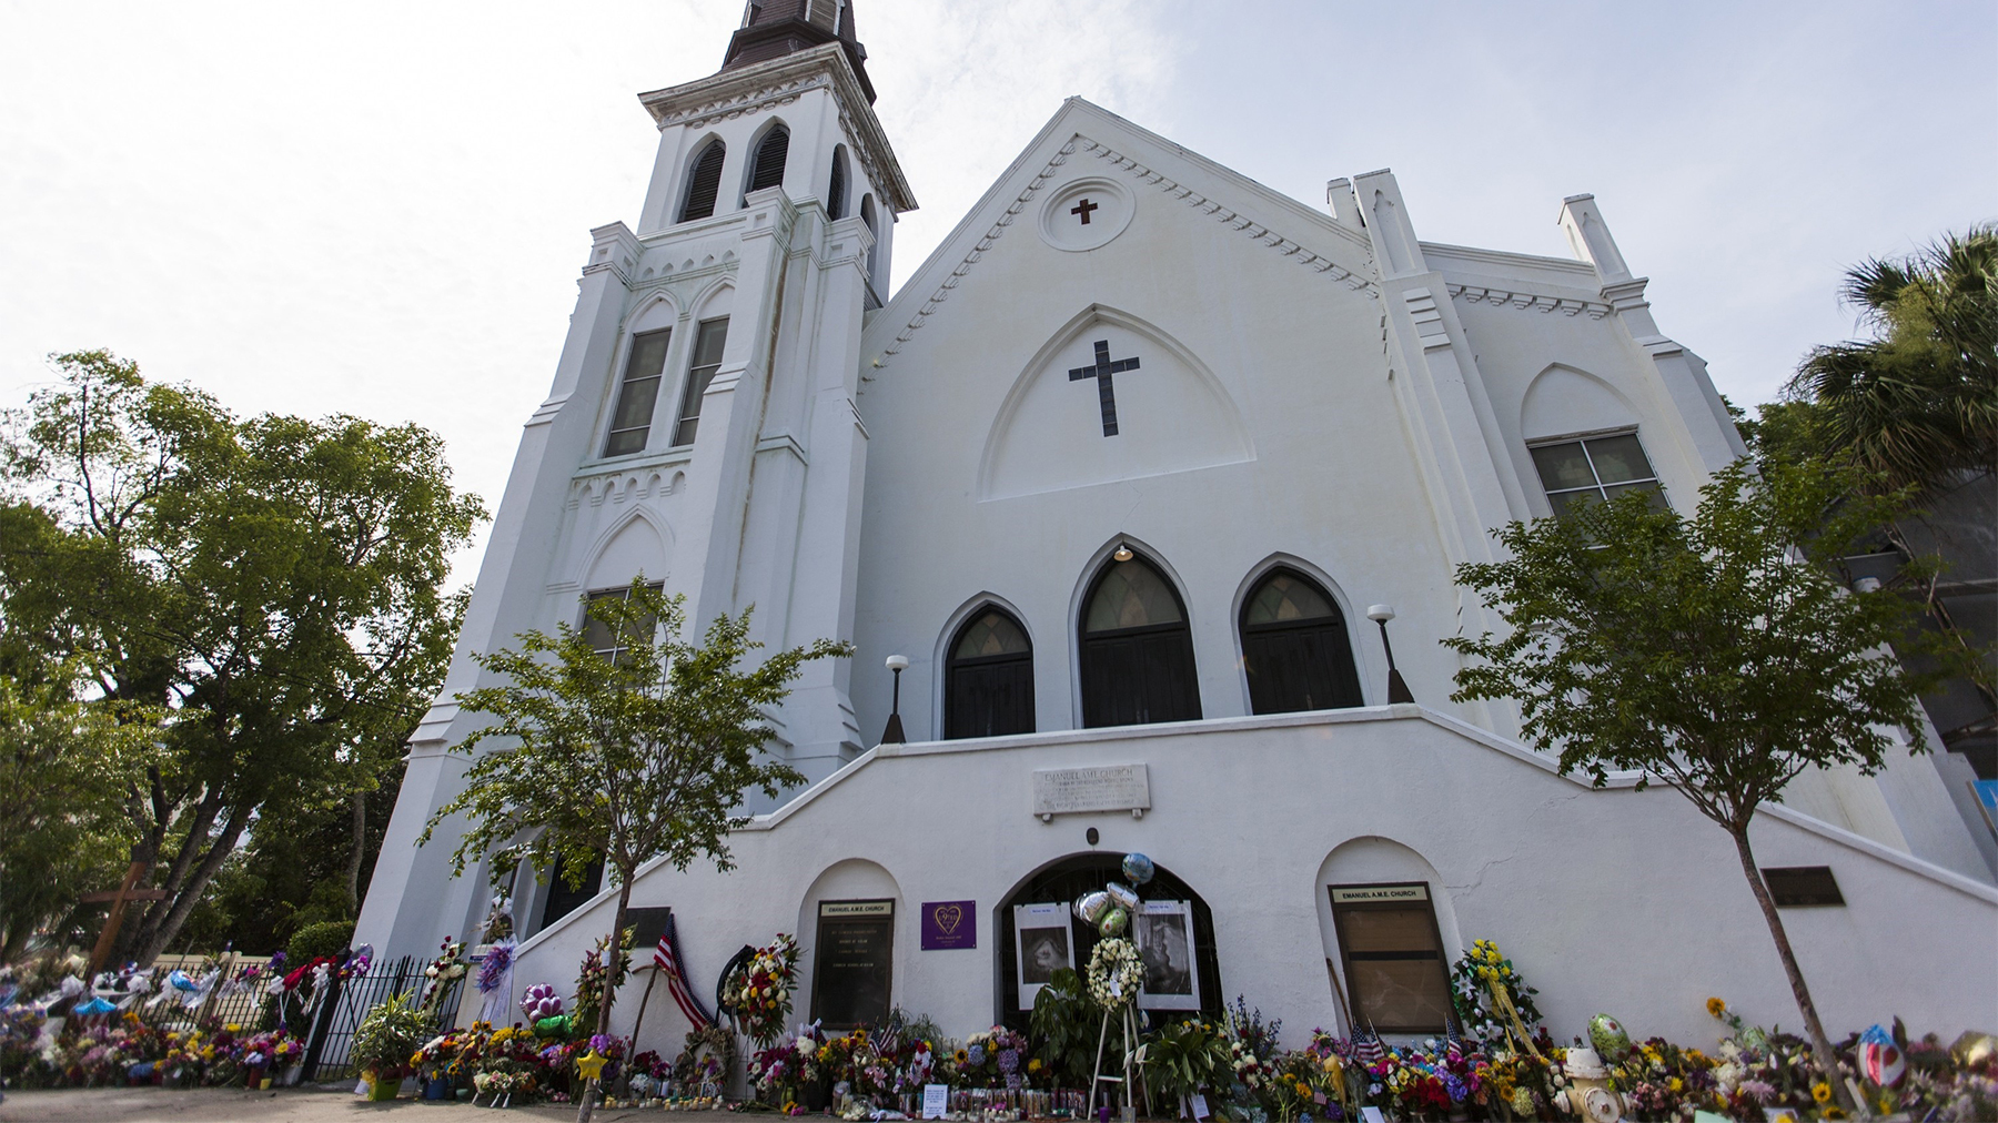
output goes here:
<path id="1" fill-rule="evenodd" d="M 1443 1033 L 1451 977 L 1429 885 L 1327 885 L 1327 891 L 1353 1023 L 1385 1033 Z"/>

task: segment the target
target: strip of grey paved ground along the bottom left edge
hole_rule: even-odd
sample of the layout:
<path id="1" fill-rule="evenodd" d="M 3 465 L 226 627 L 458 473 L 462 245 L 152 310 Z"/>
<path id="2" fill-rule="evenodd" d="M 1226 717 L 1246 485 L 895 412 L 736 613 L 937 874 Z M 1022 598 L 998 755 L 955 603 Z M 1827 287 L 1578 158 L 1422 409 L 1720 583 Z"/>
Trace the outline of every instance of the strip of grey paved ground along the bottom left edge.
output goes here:
<path id="1" fill-rule="evenodd" d="M 10 1091 L 0 1103 L 0 1123 L 505 1123 L 515 1119 L 575 1119 L 573 1105 L 509 1107 L 488 1113 L 464 1103 L 394 1099 L 370 1103 L 352 1091 L 284 1089 L 242 1091 L 220 1087 L 84 1087 L 62 1091 Z M 741 1121 L 725 1111 L 603 1111 L 605 1123 L 721 1123 Z"/>

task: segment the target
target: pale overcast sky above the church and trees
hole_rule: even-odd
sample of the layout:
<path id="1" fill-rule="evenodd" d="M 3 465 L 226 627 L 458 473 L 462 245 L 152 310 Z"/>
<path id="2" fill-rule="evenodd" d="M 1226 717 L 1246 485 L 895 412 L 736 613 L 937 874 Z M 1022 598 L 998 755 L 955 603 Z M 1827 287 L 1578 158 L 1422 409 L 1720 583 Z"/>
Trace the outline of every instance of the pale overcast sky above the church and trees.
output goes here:
<path id="1" fill-rule="evenodd" d="M 907 278 L 1081 94 L 1311 206 L 1566 256 L 1592 192 L 1660 328 L 1764 402 L 1852 334 L 1838 274 L 1998 218 L 1998 2 L 855 0 L 921 210 Z M 741 0 L 0 2 L 0 406 L 110 348 L 240 412 L 442 432 L 498 504 L 587 230 L 635 220 L 633 94 Z"/>

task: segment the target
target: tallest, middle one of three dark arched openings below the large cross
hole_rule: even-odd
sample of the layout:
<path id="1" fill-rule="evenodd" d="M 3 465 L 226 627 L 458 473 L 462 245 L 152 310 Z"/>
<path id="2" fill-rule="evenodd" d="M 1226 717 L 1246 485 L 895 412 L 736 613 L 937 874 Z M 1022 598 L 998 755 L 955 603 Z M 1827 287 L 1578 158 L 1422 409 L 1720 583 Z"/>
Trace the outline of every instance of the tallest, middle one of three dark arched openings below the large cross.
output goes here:
<path id="1" fill-rule="evenodd" d="M 1151 562 L 1107 562 L 1083 599 L 1081 629 L 1083 725 L 1201 715 L 1187 609 Z"/>

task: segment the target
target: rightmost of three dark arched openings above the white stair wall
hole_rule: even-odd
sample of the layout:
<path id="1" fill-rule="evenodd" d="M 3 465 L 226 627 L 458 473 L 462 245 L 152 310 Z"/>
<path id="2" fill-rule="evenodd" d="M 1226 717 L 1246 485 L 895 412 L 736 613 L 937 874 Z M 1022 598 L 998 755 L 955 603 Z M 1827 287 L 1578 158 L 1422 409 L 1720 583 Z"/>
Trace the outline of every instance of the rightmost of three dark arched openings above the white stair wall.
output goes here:
<path id="1" fill-rule="evenodd" d="M 1243 601 L 1243 669 L 1257 713 L 1363 703 L 1347 619 L 1297 569 L 1271 569 Z"/>

